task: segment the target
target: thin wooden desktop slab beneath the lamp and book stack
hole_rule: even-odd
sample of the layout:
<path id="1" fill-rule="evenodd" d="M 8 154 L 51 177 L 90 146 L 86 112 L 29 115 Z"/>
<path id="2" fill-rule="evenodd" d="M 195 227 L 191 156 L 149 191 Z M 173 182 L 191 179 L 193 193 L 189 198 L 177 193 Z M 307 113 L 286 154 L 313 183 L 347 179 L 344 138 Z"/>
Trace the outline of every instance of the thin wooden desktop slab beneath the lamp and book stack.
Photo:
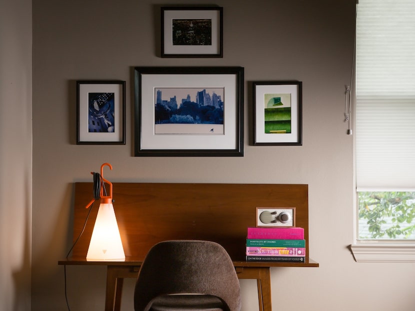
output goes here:
<path id="1" fill-rule="evenodd" d="M 64 260 L 59 260 L 58 265 L 122 265 L 122 266 L 139 266 L 142 264 L 142 260 L 134 257 L 126 257 L 125 260 L 114 261 L 87 261 L 85 257 L 68 257 Z M 233 260 L 233 265 L 241 267 L 318 267 L 318 262 L 311 258 L 306 257 L 305 262 L 269 262 L 269 261 L 243 261 Z"/>

